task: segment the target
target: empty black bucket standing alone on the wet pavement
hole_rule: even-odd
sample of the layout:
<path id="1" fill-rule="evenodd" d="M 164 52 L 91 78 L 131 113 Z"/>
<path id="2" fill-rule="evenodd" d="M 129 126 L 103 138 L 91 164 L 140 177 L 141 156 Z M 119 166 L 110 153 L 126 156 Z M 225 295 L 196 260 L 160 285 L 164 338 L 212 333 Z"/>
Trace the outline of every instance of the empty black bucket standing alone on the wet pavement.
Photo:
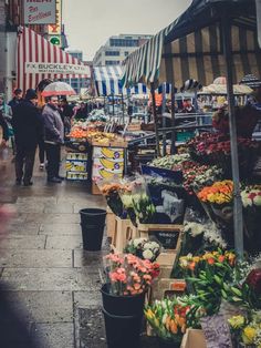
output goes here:
<path id="1" fill-rule="evenodd" d="M 86 208 L 80 211 L 83 235 L 83 248 L 85 250 L 101 250 L 105 226 L 106 211 Z"/>

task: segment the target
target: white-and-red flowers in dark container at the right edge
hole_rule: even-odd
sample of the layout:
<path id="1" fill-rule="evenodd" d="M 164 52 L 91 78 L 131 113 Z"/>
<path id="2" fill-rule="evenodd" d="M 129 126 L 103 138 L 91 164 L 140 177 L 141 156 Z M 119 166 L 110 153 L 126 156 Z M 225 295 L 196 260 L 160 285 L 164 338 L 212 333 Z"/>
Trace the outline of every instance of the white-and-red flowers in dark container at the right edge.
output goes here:
<path id="1" fill-rule="evenodd" d="M 246 248 L 249 253 L 260 253 L 261 185 L 247 186 L 241 192 L 241 198 L 246 227 Z"/>

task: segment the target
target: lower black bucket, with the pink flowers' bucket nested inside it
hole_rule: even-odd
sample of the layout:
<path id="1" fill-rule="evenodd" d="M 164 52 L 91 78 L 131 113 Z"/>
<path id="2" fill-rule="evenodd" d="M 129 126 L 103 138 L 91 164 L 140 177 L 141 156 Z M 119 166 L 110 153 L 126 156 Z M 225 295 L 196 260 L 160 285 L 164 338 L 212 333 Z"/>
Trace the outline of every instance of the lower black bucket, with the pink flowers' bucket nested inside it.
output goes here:
<path id="1" fill-rule="evenodd" d="M 138 348 L 143 316 L 115 316 L 103 308 L 107 347 Z"/>

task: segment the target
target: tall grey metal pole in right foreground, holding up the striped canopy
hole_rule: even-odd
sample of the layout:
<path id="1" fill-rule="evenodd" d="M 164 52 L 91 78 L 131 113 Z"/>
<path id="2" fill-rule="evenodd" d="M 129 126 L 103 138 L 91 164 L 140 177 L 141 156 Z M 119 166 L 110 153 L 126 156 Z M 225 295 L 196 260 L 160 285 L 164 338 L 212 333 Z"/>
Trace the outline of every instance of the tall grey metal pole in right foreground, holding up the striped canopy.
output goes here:
<path id="1" fill-rule="evenodd" d="M 228 10 L 228 9 L 227 9 Z M 228 13 L 228 12 L 227 12 Z M 223 13 L 225 14 L 225 13 Z M 227 89 L 228 89 L 228 105 L 229 105 L 229 129 L 231 143 L 232 158 L 232 176 L 233 176 L 233 228 L 234 228 L 234 248 L 239 257 L 243 256 L 243 217 L 242 202 L 240 196 L 240 178 L 239 178 L 239 160 L 238 160 L 238 140 L 237 125 L 234 115 L 234 96 L 233 96 L 233 76 L 232 76 L 232 51 L 230 23 L 227 14 L 222 17 L 222 39 L 223 53 L 227 63 Z"/>

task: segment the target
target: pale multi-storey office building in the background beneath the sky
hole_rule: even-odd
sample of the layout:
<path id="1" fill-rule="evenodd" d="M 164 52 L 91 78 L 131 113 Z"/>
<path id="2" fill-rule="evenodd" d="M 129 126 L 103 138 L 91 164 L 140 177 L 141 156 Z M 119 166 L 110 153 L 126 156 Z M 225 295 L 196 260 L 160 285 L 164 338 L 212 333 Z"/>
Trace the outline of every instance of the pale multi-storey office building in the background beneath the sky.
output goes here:
<path id="1" fill-rule="evenodd" d="M 118 65 L 125 58 L 143 45 L 152 35 L 119 34 L 111 37 L 95 53 L 93 65 Z"/>

